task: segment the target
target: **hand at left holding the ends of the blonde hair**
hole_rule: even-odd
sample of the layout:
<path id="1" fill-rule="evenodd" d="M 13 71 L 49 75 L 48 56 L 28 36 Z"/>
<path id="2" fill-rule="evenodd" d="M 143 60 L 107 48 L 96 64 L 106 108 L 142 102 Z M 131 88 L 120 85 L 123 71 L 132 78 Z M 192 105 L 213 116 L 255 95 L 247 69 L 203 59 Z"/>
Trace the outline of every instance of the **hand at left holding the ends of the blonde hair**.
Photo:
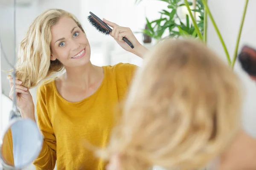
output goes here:
<path id="1" fill-rule="evenodd" d="M 14 93 L 16 93 L 17 106 L 20 108 L 22 118 L 30 118 L 32 120 L 35 120 L 35 115 L 34 115 L 35 105 L 29 90 L 23 87 L 22 86 L 23 82 L 21 82 L 18 79 L 16 79 L 16 85 L 14 89 L 13 78 L 10 76 L 8 77 L 8 79 L 10 81 L 10 86 L 11 86 L 9 98 L 13 99 Z"/>

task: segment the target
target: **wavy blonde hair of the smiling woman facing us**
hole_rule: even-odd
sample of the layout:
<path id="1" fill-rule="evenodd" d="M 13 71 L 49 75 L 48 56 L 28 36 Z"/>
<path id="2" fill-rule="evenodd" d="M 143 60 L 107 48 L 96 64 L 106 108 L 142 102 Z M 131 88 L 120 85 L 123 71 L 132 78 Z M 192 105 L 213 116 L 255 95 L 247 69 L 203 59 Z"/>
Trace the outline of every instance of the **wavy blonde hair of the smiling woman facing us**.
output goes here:
<path id="1" fill-rule="evenodd" d="M 36 17 L 29 26 L 26 37 L 20 42 L 19 58 L 15 66 L 16 77 L 26 88 L 35 87 L 42 80 L 64 70 L 63 64 L 58 59 L 50 60 L 51 28 L 61 17 L 72 18 L 84 32 L 78 19 L 62 9 L 48 9 Z"/>

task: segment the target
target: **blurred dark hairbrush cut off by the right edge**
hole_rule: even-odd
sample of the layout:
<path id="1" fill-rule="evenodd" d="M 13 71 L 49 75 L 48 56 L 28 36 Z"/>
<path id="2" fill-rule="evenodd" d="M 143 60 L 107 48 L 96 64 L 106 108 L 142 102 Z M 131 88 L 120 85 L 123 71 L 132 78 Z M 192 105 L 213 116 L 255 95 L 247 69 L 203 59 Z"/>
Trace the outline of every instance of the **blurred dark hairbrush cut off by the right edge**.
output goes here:
<path id="1" fill-rule="evenodd" d="M 239 62 L 244 71 L 256 80 L 256 50 L 248 45 L 244 45 L 238 55 Z"/>

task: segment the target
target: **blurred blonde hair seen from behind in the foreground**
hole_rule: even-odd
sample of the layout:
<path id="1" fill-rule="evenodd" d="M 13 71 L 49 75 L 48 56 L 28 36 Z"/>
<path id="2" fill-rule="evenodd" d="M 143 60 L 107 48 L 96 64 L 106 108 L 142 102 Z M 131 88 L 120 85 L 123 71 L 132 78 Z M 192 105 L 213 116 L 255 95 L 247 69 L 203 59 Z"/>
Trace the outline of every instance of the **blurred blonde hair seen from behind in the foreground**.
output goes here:
<path id="1" fill-rule="evenodd" d="M 204 167 L 240 128 L 239 79 L 196 40 L 157 45 L 124 104 L 106 152 L 98 153 L 118 154 L 122 170 Z"/>

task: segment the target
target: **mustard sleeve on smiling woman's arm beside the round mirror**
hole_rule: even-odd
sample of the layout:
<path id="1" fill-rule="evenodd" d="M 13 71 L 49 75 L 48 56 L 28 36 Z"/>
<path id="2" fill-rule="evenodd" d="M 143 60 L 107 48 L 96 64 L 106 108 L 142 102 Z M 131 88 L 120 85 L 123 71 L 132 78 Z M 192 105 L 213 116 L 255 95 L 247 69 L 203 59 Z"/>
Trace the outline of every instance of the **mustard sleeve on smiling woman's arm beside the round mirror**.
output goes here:
<path id="1" fill-rule="evenodd" d="M 56 138 L 46 106 L 46 89 L 37 89 L 37 124 L 44 135 L 44 143 L 38 158 L 34 161 L 36 170 L 53 170 L 56 163 Z"/>

